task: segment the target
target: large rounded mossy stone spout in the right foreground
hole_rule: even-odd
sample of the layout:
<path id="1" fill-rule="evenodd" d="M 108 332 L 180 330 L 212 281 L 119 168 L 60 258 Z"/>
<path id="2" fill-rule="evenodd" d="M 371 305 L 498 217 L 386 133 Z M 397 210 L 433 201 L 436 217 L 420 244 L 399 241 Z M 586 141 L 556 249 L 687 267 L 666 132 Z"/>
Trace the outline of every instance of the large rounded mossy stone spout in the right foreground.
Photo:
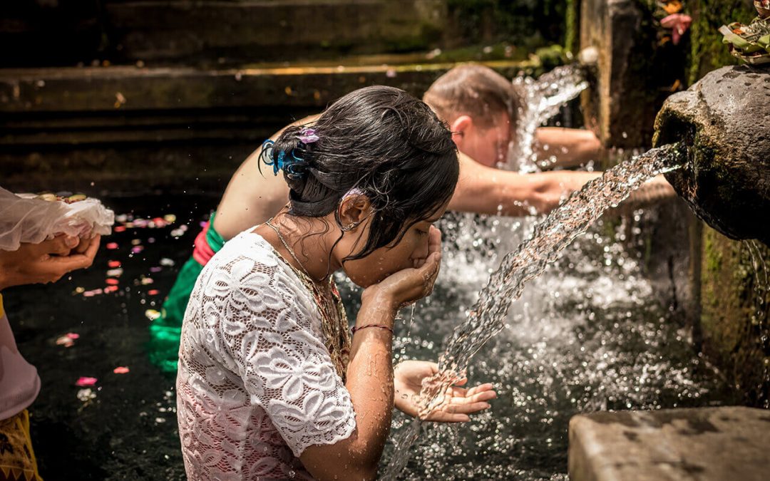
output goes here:
<path id="1" fill-rule="evenodd" d="M 671 95 L 654 145 L 684 141 L 688 162 L 666 174 L 705 222 L 770 246 L 770 70 L 724 67 Z"/>

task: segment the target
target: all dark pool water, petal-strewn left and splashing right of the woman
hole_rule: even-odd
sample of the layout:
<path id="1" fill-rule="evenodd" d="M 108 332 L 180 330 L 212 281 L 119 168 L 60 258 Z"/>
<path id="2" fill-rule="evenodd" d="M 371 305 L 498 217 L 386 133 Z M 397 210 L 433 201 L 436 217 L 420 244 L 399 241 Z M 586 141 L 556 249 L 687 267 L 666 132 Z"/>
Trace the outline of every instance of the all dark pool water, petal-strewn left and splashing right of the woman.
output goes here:
<path id="1" fill-rule="evenodd" d="M 4 293 L 19 349 L 42 378 L 30 409 L 40 470 L 45 479 L 184 479 L 174 379 L 149 362 L 146 312 L 160 310 L 218 195 L 103 199 L 119 215 L 176 215 L 176 222 L 116 232 L 88 271 Z M 459 253 L 445 256 L 432 299 L 402 312 L 399 359 L 436 359 L 496 266 L 497 256 L 484 250 L 510 248 L 526 230 L 517 222 L 482 225 L 483 232 L 447 226 L 457 229 L 451 243 Z M 692 351 L 669 306 L 655 299 L 640 267 L 644 246 L 618 242 L 610 231 L 592 229 L 527 288 L 507 329 L 470 367 L 471 379 L 497 384 L 493 409 L 464 426 L 430 429 L 405 478 L 564 479 L 574 413 L 731 403 L 718 372 Z M 118 248 L 106 249 L 108 242 Z M 84 296 L 105 287 L 109 261 L 121 262 L 122 275 L 113 276 L 118 289 Z M 357 291 L 344 282 L 342 290 L 354 315 Z M 68 332 L 79 335 L 74 346 L 57 345 Z M 115 374 L 118 366 L 129 372 Z M 75 386 L 81 376 L 98 379 L 92 399 Z M 395 428 L 403 422 L 397 416 Z"/>

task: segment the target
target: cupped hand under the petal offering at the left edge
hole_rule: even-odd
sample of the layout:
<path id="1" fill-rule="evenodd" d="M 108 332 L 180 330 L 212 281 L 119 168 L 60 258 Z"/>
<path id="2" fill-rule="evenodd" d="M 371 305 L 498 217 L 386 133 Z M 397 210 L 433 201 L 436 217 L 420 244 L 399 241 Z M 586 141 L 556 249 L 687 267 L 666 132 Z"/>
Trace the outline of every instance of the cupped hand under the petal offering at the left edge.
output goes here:
<path id="1" fill-rule="evenodd" d="M 67 272 L 91 266 L 100 239 L 58 235 L 39 244 L 22 242 L 15 251 L 0 250 L 0 290 L 56 282 Z"/>

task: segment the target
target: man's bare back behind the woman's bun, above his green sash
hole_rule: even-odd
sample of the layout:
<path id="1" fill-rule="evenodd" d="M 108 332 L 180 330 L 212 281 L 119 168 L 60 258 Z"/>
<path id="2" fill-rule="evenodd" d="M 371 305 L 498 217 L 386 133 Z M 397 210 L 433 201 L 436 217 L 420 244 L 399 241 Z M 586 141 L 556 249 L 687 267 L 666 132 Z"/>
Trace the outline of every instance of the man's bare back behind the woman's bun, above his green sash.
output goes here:
<path id="1" fill-rule="evenodd" d="M 310 115 L 290 125 L 315 122 L 319 116 Z M 286 127 L 273 134 L 270 139 L 278 139 Z M 230 178 L 225 194 L 219 201 L 214 217 L 214 229 L 225 240 L 233 239 L 249 227 L 265 222 L 289 202 L 289 186 L 283 180 L 283 173 L 273 175 L 273 167 L 270 165 L 261 165 L 260 172 L 261 152 L 262 145 L 243 161 Z"/>

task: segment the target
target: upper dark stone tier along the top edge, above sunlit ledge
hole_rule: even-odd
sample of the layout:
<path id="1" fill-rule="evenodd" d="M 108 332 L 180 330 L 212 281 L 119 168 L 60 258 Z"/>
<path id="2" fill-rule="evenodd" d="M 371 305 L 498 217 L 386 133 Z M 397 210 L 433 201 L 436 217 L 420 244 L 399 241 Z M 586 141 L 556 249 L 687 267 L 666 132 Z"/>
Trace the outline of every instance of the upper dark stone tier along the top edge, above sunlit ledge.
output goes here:
<path id="1" fill-rule="evenodd" d="M 447 6 L 442 0 L 22 0 L 3 2 L 0 14 L 2 65 L 93 58 L 216 65 L 433 48 L 444 35 Z"/>

